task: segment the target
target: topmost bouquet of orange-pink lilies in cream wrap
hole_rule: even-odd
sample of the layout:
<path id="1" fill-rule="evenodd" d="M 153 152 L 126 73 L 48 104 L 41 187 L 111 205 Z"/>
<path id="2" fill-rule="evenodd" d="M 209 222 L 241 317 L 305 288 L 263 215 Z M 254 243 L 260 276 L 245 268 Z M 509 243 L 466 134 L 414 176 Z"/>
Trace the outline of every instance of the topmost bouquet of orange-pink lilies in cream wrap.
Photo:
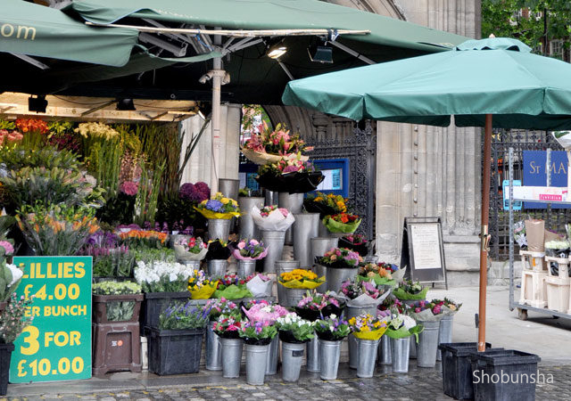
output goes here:
<path id="1" fill-rule="evenodd" d="M 299 134 L 290 135 L 289 130 L 282 124 L 277 124 L 276 129 L 272 131 L 265 122 L 260 133 L 252 133 L 241 149 L 246 159 L 261 165 L 276 162 L 284 157 L 308 160 L 307 156 L 298 156 L 298 153 L 311 150 L 313 148 L 307 146 Z"/>

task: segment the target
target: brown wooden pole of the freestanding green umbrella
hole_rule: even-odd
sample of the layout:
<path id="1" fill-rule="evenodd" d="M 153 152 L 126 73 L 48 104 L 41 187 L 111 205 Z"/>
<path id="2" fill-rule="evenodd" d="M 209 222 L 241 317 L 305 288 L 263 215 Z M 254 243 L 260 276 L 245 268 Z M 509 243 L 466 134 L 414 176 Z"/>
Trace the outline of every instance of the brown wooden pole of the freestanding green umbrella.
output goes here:
<path id="1" fill-rule="evenodd" d="M 492 114 L 485 115 L 484 171 L 482 172 L 482 230 L 480 232 L 480 302 L 478 311 L 478 351 L 485 350 L 485 296 L 488 285 L 488 220 L 490 217 L 490 163 L 492 161 Z"/>

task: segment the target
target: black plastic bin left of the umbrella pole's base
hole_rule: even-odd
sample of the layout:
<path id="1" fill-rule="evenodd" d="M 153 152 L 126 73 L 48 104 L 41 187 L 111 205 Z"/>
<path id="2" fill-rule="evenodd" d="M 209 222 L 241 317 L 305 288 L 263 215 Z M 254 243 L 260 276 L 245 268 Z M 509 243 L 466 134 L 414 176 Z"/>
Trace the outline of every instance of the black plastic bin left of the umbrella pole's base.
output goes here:
<path id="1" fill-rule="evenodd" d="M 472 364 L 469 356 L 477 352 L 477 343 L 451 342 L 440 344 L 438 348 L 443 353 L 444 394 L 456 399 L 474 399 Z M 486 342 L 485 348 L 490 349 L 492 346 Z"/>

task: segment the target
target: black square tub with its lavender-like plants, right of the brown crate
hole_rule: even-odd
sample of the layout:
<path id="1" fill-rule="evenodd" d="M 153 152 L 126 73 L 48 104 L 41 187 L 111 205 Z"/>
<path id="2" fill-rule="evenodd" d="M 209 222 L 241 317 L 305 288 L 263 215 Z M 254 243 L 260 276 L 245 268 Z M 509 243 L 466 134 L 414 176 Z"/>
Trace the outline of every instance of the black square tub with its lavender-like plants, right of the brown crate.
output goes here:
<path id="1" fill-rule="evenodd" d="M 149 371 L 159 375 L 198 372 L 210 310 L 191 301 L 167 307 L 149 336 Z"/>

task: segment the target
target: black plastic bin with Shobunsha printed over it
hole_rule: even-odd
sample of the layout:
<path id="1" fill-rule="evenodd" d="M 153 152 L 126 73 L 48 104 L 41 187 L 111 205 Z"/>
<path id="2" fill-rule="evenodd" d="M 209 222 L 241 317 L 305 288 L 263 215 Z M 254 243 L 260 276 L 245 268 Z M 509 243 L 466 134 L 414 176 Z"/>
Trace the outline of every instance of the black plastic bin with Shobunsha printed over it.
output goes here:
<path id="1" fill-rule="evenodd" d="M 476 401 L 534 401 L 539 356 L 506 349 L 469 357 Z"/>

